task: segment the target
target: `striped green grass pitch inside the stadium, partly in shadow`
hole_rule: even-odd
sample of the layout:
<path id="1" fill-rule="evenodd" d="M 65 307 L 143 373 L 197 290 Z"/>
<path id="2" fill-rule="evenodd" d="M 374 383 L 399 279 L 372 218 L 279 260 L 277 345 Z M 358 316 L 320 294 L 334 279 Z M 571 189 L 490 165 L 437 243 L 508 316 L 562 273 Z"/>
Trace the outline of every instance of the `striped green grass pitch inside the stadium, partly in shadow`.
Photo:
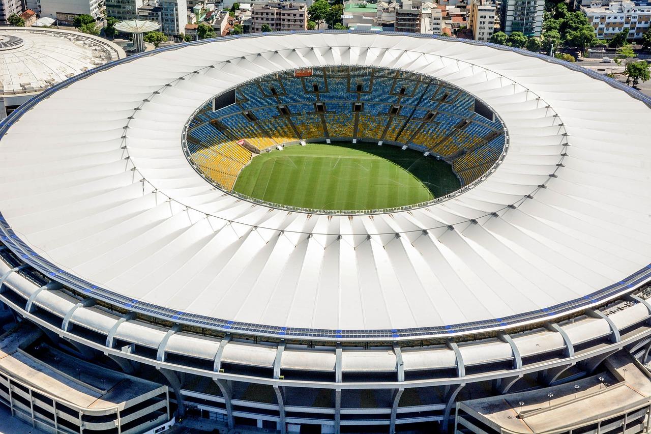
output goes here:
<path id="1" fill-rule="evenodd" d="M 452 167 L 421 152 L 368 143 L 290 146 L 257 155 L 233 190 L 264 201 L 322 210 L 383 209 L 458 189 Z"/>

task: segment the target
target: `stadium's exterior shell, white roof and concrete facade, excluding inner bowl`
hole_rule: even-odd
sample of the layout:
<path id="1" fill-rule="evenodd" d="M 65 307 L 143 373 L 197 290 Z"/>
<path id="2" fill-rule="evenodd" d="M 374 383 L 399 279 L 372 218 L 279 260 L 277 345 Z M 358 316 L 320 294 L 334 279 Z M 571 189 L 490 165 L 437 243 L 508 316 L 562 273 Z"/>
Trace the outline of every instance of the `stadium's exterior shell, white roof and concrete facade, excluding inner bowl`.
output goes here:
<path id="1" fill-rule="evenodd" d="M 463 89 L 499 116 L 505 152 L 443 200 L 372 214 L 248 201 L 188 163 L 206 100 L 326 66 Z M 467 40 L 277 33 L 133 56 L 0 128 L 0 300 L 68 354 L 158 376 L 178 416 L 283 433 L 641 432 L 649 121 L 651 101 L 616 81 Z"/>

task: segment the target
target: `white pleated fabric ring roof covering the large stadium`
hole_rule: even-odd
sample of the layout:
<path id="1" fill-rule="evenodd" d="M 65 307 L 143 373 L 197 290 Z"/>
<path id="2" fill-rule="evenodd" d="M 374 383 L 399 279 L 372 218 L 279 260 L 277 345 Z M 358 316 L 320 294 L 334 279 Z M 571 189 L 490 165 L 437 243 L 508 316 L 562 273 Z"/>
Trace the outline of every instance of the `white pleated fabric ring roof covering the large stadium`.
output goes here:
<path id="1" fill-rule="evenodd" d="M 126 60 L 51 94 L 0 141 L 8 224 L 100 287 L 233 321 L 398 329 L 540 310 L 650 262 L 651 109 L 566 66 L 385 33 L 223 38 Z M 477 95 L 508 129 L 504 162 L 452 199 L 374 216 L 268 209 L 188 164 L 182 130 L 210 96 L 333 64 L 404 68 Z"/>

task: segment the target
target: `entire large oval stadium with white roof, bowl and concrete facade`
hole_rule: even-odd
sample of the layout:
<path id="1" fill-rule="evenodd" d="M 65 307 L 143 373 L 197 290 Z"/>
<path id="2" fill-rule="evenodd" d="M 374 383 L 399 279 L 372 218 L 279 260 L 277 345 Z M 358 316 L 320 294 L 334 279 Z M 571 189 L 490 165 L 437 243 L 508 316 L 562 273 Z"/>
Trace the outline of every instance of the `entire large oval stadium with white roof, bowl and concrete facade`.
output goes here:
<path id="1" fill-rule="evenodd" d="M 646 431 L 650 121 L 427 35 L 84 72 L 0 127 L 0 402 L 65 433 Z"/>

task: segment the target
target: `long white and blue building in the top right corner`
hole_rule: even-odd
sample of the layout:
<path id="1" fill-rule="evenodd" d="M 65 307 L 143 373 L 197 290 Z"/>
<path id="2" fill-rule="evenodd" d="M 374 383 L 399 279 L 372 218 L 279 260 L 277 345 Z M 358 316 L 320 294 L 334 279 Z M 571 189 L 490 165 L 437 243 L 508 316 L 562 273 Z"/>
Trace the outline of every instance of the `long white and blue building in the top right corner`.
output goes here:
<path id="1" fill-rule="evenodd" d="M 629 29 L 629 39 L 638 39 L 649 31 L 651 22 L 651 3 L 646 1 L 611 1 L 607 7 L 593 1 L 589 7 L 581 6 L 581 12 L 599 39 L 610 39 L 624 29 Z"/>

